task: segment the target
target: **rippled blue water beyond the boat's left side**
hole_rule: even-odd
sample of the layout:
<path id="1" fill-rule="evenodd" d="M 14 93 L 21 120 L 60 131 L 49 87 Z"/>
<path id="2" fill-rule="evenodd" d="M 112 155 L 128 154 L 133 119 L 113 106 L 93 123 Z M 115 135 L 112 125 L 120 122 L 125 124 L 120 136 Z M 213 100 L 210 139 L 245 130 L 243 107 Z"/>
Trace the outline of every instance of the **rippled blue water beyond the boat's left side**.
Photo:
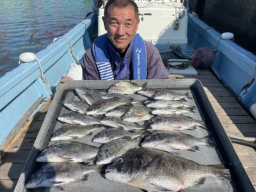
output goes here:
<path id="1" fill-rule="evenodd" d="M 0 6 L 0 77 L 22 52 L 38 52 L 92 11 L 92 0 L 3 0 Z"/>

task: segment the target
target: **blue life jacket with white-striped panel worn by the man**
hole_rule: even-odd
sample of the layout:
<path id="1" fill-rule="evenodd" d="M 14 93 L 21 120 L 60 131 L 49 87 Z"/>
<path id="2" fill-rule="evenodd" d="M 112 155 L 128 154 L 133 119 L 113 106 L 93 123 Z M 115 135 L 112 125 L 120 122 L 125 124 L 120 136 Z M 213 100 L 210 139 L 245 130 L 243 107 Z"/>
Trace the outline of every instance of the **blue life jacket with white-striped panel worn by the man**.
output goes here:
<path id="1" fill-rule="evenodd" d="M 145 42 L 138 33 L 134 35 L 127 52 L 129 52 L 129 49 L 132 49 L 131 65 L 133 79 L 147 79 L 147 51 Z M 118 68 L 120 67 L 118 65 L 121 63 L 120 56 L 109 42 L 107 34 L 100 35 L 95 39 L 92 52 L 101 80 L 120 80 L 130 74 L 126 56 L 127 52 L 124 56 L 123 67 Z M 115 78 L 113 76 L 111 62 L 117 65 Z"/>

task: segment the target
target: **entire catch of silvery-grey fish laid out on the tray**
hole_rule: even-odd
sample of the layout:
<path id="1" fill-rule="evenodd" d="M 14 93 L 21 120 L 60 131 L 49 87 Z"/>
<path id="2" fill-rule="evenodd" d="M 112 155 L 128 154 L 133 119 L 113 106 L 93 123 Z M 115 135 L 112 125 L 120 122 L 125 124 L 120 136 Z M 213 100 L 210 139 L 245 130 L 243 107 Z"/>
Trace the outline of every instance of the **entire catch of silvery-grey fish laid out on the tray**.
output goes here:
<path id="1" fill-rule="evenodd" d="M 87 180 L 88 173 L 100 172 L 109 163 L 106 179 L 147 191 L 179 191 L 207 177 L 230 180 L 223 166 L 177 156 L 184 150 L 198 152 L 198 145 L 214 148 L 209 136 L 195 138 L 179 132 L 207 129 L 204 121 L 184 116 L 196 113 L 188 93 L 131 81 L 118 81 L 106 95 L 90 88 L 76 88 L 76 93 L 81 100 L 63 103 L 72 112 L 58 117 L 65 125 L 50 138 L 58 142 L 38 154 L 36 161 L 46 164 L 31 176 L 26 188 Z M 137 100 L 134 95 L 147 98 Z M 92 134 L 93 145 L 75 140 Z"/>

